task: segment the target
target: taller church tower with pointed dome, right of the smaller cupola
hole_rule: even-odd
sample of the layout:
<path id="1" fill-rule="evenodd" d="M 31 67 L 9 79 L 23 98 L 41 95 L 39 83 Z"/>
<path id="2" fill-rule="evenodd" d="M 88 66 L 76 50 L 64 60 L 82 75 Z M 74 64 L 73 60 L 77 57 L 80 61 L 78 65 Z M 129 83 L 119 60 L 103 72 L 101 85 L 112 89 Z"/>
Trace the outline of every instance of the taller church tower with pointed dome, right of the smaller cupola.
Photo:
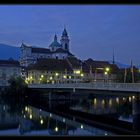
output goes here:
<path id="1" fill-rule="evenodd" d="M 61 45 L 64 50 L 69 51 L 69 38 L 66 29 L 64 28 L 62 36 L 61 36 Z"/>

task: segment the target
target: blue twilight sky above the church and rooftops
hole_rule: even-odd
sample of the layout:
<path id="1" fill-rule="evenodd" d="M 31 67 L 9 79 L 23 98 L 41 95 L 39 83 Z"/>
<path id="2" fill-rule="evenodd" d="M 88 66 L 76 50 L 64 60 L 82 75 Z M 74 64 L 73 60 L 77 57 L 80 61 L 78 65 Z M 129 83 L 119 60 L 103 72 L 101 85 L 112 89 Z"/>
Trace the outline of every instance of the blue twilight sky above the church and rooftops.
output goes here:
<path id="1" fill-rule="evenodd" d="M 78 58 L 140 65 L 140 5 L 0 5 L 0 43 L 48 47 L 64 26 Z"/>

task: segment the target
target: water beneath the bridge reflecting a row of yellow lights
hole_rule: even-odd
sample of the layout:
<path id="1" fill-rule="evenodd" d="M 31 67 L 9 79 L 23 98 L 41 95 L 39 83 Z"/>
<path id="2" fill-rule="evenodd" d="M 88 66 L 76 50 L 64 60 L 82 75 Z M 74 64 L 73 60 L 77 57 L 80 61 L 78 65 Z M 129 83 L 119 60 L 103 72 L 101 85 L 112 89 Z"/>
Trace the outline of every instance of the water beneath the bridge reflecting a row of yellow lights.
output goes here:
<path id="1" fill-rule="evenodd" d="M 132 103 L 135 96 L 93 95 L 83 98 L 71 106 L 71 109 L 91 114 L 109 114 L 124 121 L 132 122 Z M 127 120 L 128 119 L 128 120 Z"/>

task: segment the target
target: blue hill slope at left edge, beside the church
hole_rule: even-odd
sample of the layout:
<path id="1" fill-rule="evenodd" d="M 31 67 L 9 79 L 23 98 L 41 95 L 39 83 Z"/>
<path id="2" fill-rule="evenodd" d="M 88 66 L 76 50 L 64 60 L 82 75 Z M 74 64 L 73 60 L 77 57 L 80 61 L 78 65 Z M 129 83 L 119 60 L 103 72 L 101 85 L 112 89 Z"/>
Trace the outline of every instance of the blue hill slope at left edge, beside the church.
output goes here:
<path id="1" fill-rule="evenodd" d="M 19 60 L 19 55 L 19 47 L 0 43 L 0 59 L 9 59 L 10 57 L 12 57 L 15 60 Z"/>

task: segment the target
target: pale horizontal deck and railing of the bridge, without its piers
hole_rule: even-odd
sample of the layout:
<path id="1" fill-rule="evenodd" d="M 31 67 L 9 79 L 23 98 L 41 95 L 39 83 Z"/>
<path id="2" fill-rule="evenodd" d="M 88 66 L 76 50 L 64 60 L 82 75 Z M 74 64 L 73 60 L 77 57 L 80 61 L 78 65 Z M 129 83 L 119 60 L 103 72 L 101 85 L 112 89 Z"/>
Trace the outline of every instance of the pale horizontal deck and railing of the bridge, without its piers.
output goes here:
<path id="1" fill-rule="evenodd" d="M 140 93 L 140 83 L 58 83 L 58 84 L 29 84 L 32 89 L 56 90 L 90 90 L 90 91 L 119 91 Z"/>

